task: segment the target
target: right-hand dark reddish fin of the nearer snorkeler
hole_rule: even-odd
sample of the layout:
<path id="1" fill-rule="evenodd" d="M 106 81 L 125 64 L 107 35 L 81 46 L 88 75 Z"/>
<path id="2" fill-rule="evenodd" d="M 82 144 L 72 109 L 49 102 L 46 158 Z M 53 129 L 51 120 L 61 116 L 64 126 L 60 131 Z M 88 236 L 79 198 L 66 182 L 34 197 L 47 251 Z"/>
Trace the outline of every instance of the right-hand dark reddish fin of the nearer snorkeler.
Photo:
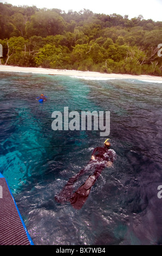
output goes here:
<path id="1" fill-rule="evenodd" d="M 80 210 L 82 208 L 83 204 L 86 202 L 89 196 L 91 187 L 94 185 L 94 183 L 95 176 L 90 175 L 86 182 L 81 187 L 79 187 L 78 190 L 70 198 L 70 203 L 75 209 Z"/>

